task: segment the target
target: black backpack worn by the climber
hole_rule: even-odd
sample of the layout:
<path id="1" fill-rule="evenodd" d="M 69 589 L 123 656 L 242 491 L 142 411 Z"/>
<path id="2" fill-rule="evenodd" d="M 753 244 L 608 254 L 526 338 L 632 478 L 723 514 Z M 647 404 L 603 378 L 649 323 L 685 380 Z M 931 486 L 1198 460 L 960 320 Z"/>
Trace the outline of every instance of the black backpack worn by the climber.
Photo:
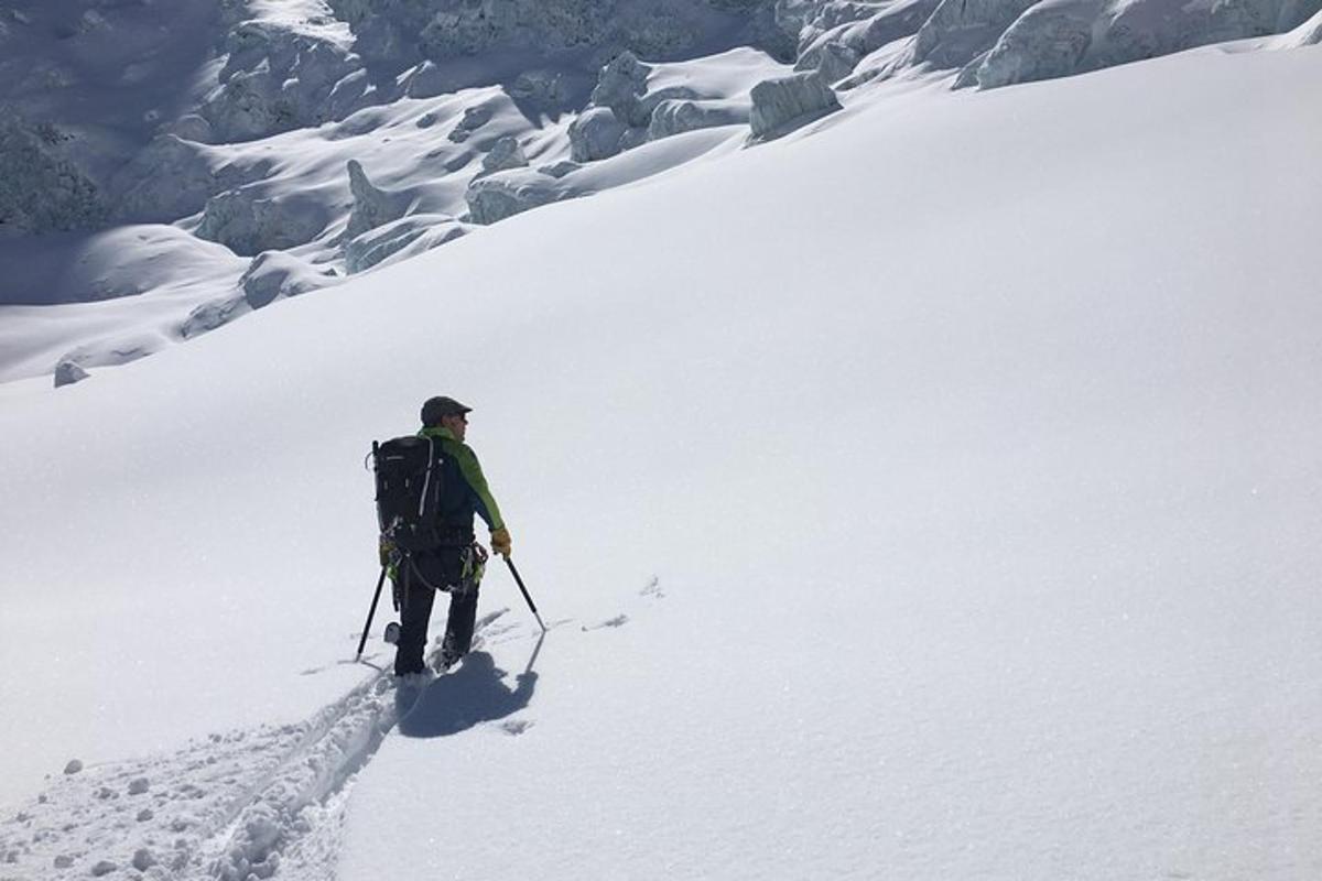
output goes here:
<path id="1" fill-rule="evenodd" d="M 377 523 L 383 539 L 405 553 L 434 551 L 443 543 L 438 515 L 446 469 L 440 444 L 405 436 L 371 444 L 377 474 Z"/>

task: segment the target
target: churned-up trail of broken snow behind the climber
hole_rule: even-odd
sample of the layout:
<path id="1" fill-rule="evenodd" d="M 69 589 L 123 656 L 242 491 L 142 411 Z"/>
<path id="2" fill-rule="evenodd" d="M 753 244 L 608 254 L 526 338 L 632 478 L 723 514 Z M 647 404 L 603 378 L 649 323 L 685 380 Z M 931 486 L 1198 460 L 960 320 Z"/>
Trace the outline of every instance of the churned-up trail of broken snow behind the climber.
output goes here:
<path id="1" fill-rule="evenodd" d="M 518 629 L 496 625 L 506 612 L 479 619 L 475 650 Z M 0 881 L 333 877 L 353 779 L 424 684 L 382 670 L 303 722 L 66 773 L 0 823 Z"/>

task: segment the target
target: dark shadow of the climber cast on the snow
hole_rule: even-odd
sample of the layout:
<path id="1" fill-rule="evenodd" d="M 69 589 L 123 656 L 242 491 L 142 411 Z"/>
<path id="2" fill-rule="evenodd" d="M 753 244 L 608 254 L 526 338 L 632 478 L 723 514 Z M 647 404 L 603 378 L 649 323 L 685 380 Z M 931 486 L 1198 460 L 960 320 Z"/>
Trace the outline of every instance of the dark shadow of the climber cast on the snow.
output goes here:
<path id="1" fill-rule="evenodd" d="M 538 641 L 537 649 L 541 649 Z M 505 719 L 527 707 L 537 688 L 533 662 L 516 676 L 516 688 L 505 684 L 505 671 L 485 651 L 464 656 L 459 670 L 435 682 L 419 695 L 418 701 L 399 720 L 399 733 L 405 737 L 448 737 L 479 722 Z"/>

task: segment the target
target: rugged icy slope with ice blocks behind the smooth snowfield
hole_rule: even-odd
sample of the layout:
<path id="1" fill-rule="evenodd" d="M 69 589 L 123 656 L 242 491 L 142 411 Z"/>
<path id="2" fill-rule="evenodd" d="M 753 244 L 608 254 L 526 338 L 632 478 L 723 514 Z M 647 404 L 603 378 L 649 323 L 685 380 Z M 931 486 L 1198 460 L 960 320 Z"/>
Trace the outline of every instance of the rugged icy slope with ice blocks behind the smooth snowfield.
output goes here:
<path id="1" fill-rule="evenodd" d="M 78 382 L 804 125 L 834 90 L 866 103 L 933 70 L 993 88 L 1204 44 L 1306 46 L 1319 7 L 17 0 L 0 8 L 0 382 Z"/>

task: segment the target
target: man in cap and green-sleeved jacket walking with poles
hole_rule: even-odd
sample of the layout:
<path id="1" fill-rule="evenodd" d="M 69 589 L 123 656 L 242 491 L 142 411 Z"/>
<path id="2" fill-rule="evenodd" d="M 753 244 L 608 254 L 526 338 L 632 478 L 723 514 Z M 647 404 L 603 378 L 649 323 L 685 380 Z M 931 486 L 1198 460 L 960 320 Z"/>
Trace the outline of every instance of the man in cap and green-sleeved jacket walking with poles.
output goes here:
<path id="1" fill-rule="evenodd" d="M 432 552 L 416 553 L 398 561 L 391 572 L 399 600 L 399 642 L 395 646 L 395 675 L 423 672 L 427 649 L 427 623 L 436 590 L 449 590 L 449 618 L 442 642 L 440 664 L 449 668 L 468 654 L 477 619 L 477 580 L 485 552 L 473 540 L 473 514 L 490 530 L 492 549 L 504 557 L 510 553 L 509 530 L 501 519 L 496 499 L 486 486 L 481 465 L 472 448 L 464 444 L 468 413 L 472 407 L 453 398 L 430 398 L 422 405 L 420 437 L 430 437 L 442 449 L 442 497 L 438 506 L 442 546 Z M 393 548 L 383 547 L 382 556 Z"/>

